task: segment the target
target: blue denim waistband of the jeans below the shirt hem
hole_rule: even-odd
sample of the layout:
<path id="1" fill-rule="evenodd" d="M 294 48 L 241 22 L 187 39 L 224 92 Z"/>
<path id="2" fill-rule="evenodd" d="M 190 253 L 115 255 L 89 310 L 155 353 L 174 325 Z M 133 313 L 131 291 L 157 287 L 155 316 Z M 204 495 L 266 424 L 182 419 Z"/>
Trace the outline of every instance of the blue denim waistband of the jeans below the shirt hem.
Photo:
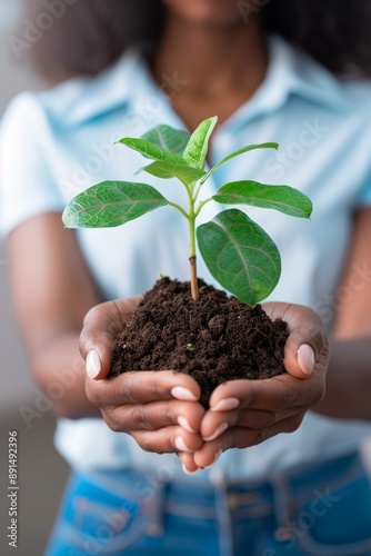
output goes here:
<path id="1" fill-rule="evenodd" d="M 227 480 L 222 475 L 205 481 L 190 478 L 164 479 L 151 470 L 110 470 L 83 474 L 84 479 L 116 495 L 132 496 L 137 500 L 164 507 L 169 512 L 215 517 L 217 500 L 222 496 L 231 512 L 249 512 L 252 515 L 273 513 L 281 506 L 287 493 L 305 500 L 315 496 L 321 485 L 331 488 L 333 484 L 349 483 L 363 471 L 358 453 L 310 465 L 298 466 L 288 471 L 272 474 L 267 480 Z M 313 494 L 314 493 L 314 494 Z"/>

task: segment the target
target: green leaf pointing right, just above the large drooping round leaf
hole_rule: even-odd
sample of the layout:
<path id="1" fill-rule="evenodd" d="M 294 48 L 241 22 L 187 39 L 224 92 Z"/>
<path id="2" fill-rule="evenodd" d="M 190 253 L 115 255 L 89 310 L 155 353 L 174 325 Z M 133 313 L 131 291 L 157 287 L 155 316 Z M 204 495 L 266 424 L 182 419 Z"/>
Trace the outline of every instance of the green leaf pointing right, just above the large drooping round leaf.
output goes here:
<path id="1" fill-rule="evenodd" d="M 307 195 L 292 187 L 268 186 L 258 181 L 231 181 L 212 198 L 222 205 L 251 205 L 280 210 L 298 218 L 310 218 L 313 208 Z"/>

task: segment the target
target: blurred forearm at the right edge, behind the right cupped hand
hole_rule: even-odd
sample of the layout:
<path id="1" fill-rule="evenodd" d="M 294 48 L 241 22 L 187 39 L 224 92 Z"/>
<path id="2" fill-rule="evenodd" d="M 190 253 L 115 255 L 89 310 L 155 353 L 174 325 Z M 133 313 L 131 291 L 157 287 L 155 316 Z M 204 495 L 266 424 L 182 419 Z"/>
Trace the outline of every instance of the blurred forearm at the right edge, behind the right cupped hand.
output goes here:
<path id="1" fill-rule="evenodd" d="M 371 420 L 371 338 L 331 344 L 324 398 L 313 410 L 339 419 Z"/>

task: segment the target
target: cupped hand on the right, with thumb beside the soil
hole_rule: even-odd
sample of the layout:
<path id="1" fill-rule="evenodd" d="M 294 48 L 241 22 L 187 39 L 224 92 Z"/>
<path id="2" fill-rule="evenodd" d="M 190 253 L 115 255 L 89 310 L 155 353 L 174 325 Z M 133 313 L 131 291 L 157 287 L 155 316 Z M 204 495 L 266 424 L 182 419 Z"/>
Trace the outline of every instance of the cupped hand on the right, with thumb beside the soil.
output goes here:
<path id="1" fill-rule="evenodd" d="M 297 430 L 305 411 L 324 395 L 329 345 L 318 315 L 298 305 L 269 302 L 263 308 L 273 320 L 288 322 L 288 374 L 218 386 L 201 423 L 204 445 L 181 456 L 189 471 L 210 466 L 229 448 L 247 448 L 279 433 Z"/>

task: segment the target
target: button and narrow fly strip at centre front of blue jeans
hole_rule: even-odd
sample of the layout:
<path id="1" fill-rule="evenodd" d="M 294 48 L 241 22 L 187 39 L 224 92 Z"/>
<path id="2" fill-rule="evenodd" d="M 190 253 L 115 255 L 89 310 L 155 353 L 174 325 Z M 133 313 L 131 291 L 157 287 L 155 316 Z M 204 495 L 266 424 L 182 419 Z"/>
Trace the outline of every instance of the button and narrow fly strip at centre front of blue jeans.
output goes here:
<path id="1" fill-rule="evenodd" d="M 220 556 L 233 556 L 233 529 L 228 504 L 228 485 L 221 469 L 213 469 L 210 479 L 214 486 L 219 528 Z"/>

